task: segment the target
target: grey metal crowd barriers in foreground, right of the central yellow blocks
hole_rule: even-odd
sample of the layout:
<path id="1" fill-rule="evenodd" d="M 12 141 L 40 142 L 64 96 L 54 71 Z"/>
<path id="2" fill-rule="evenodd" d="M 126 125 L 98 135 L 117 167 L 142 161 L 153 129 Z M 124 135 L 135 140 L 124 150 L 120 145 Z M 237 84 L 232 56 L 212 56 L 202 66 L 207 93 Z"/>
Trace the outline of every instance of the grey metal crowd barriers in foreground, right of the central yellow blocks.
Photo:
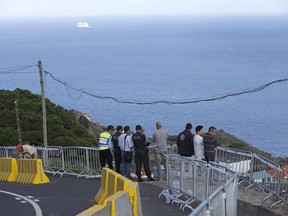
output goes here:
<path id="1" fill-rule="evenodd" d="M 167 188 L 159 197 L 179 203 L 180 209 L 191 209 L 191 215 L 236 215 L 237 175 L 232 170 L 178 155 L 167 155 L 166 161 Z"/>

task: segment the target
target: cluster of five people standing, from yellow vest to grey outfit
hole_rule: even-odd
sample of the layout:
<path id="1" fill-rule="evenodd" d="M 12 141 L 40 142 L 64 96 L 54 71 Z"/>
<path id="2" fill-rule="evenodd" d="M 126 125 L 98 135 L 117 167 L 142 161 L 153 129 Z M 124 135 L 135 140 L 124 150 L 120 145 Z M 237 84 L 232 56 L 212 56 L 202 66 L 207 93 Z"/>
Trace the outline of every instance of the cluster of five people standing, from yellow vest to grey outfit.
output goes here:
<path id="1" fill-rule="evenodd" d="M 161 122 L 156 122 L 156 132 L 152 136 L 152 142 L 155 145 L 156 165 L 158 168 L 159 179 L 162 179 L 161 165 L 166 166 L 167 154 L 167 138 L 166 131 L 161 129 Z M 124 131 L 123 131 L 124 130 Z M 106 162 L 110 169 L 113 169 L 113 155 L 115 161 L 116 172 L 122 174 L 126 178 L 131 178 L 131 163 L 133 160 L 133 152 L 135 153 L 135 165 L 137 181 L 142 182 L 142 164 L 144 171 L 148 177 L 148 181 L 155 181 L 151 176 L 149 165 L 149 149 L 150 141 L 143 133 L 141 125 L 136 125 L 135 133 L 132 134 L 130 126 L 124 128 L 119 125 L 115 129 L 112 125 L 102 132 L 99 137 L 99 155 L 101 167 L 105 167 Z M 165 167 L 166 169 L 166 167 Z"/>

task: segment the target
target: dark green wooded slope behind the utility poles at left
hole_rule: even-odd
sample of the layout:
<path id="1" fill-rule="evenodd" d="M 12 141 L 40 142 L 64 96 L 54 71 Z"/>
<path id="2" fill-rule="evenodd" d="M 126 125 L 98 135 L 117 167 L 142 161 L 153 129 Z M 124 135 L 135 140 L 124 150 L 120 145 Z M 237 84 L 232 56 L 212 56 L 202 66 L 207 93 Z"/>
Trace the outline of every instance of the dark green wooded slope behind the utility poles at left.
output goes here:
<path id="1" fill-rule="evenodd" d="M 18 100 L 23 143 L 43 143 L 41 96 L 28 90 L 0 90 L 0 145 L 18 143 L 15 101 Z M 72 111 L 46 99 L 49 146 L 95 146 L 97 140 L 75 119 Z"/>

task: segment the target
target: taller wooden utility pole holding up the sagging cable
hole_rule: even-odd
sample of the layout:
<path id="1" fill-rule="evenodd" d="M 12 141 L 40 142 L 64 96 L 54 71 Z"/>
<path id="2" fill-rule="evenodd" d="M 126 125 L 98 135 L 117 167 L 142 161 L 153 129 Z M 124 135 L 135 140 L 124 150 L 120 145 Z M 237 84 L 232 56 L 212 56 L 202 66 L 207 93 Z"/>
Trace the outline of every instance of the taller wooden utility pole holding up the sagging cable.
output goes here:
<path id="1" fill-rule="evenodd" d="M 39 74 L 40 74 L 40 86 L 41 86 L 41 97 L 42 97 L 42 115 L 43 115 L 43 142 L 44 148 L 48 147 L 47 144 L 47 119 L 46 119 L 46 103 L 44 93 L 44 81 L 43 81 L 43 69 L 41 60 L 38 61 Z"/>

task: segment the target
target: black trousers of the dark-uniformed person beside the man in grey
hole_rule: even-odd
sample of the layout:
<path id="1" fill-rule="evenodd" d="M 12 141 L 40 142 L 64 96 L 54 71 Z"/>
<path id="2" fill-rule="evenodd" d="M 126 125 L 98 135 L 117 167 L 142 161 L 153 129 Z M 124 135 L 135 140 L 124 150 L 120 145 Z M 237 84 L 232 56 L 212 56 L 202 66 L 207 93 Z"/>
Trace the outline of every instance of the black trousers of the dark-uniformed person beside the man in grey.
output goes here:
<path id="1" fill-rule="evenodd" d="M 141 178 L 141 168 L 142 163 L 144 165 L 144 170 L 148 178 L 151 177 L 151 171 L 149 166 L 149 156 L 142 149 L 135 151 L 135 164 L 136 164 L 136 175 Z"/>

